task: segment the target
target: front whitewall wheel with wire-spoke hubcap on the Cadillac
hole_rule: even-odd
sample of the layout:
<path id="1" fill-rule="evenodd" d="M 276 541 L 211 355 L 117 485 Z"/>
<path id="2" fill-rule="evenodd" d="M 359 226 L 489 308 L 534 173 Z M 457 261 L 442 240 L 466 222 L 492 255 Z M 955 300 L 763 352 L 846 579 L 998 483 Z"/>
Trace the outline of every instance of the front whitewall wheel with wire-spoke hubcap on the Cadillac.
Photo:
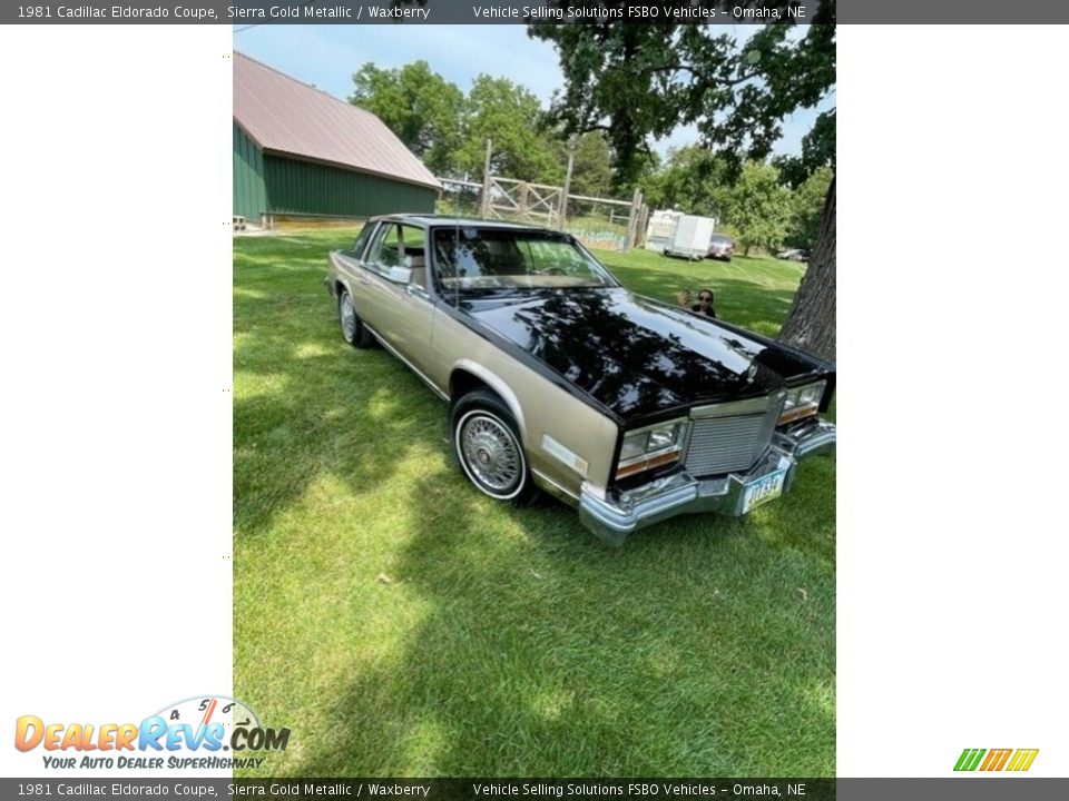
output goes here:
<path id="1" fill-rule="evenodd" d="M 534 497 L 519 427 L 497 395 L 468 393 L 453 406 L 452 422 L 453 453 L 472 484 L 496 501 L 523 504 Z"/>

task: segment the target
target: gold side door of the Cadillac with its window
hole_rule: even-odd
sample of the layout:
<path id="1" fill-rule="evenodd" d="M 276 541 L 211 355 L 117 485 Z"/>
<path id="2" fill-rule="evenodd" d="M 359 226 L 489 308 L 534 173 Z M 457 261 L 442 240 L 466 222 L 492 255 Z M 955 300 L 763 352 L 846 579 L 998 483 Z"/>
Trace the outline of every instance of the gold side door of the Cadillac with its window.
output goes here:
<path id="1" fill-rule="evenodd" d="M 373 281 L 366 293 L 367 313 L 357 309 L 357 314 L 425 377 L 434 323 L 425 234 L 422 228 L 400 222 L 383 224 L 382 228 L 367 259 Z M 391 269 L 396 267 L 409 270 L 408 283 L 391 280 Z"/>

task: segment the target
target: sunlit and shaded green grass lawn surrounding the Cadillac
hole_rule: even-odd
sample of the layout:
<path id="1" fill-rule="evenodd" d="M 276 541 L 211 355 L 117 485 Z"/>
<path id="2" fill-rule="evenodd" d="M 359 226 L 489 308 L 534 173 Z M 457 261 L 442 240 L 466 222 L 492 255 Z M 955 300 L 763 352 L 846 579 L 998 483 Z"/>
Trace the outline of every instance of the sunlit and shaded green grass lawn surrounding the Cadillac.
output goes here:
<path id="1" fill-rule="evenodd" d="M 481 495 L 445 405 L 342 340 L 331 230 L 234 240 L 234 691 L 264 775 L 831 775 L 835 467 L 600 544 Z M 774 335 L 798 265 L 598 254 Z"/>

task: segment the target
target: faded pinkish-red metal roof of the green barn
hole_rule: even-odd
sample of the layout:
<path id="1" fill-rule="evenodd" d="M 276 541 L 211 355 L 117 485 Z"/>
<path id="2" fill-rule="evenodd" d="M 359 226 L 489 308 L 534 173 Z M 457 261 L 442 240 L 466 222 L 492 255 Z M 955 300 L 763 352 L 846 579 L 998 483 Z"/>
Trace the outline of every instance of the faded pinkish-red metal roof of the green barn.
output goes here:
<path id="1" fill-rule="evenodd" d="M 441 188 L 423 162 L 371 111 L 239 52 L 234 53 L 234 120 L 266 152 Z"/>

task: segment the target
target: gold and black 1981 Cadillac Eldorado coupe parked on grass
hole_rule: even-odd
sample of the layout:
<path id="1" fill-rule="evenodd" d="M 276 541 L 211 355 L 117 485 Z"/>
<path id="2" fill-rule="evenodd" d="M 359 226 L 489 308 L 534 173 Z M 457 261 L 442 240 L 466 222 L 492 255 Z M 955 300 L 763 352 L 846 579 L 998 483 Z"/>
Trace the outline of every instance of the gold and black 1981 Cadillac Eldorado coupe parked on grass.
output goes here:
<path id="1" fill-rule="evenodd" d="M 442 399 L 464 474 L 500 501 L 541 487 L 620 544 L 674 515 L 743 515 L 835 447 L 835 366 L 625 289 L 568 234 L 371 219 L 324 279 L 342 335 Z"/>

